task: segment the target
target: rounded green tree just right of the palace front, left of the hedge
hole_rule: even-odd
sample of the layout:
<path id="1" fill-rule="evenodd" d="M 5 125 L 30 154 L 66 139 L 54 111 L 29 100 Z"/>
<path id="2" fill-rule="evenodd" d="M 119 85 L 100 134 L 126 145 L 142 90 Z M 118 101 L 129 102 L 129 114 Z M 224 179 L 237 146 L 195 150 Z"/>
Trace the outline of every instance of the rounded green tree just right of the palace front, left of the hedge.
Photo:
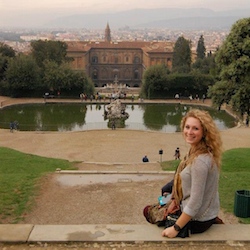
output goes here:
<path id="1" fill-rule="evenodd" d="M 167 75 L 169 70 L 159 64 L 149 67 L 143 74 L 142 94 L 150 99 L 168 88 Z"/>

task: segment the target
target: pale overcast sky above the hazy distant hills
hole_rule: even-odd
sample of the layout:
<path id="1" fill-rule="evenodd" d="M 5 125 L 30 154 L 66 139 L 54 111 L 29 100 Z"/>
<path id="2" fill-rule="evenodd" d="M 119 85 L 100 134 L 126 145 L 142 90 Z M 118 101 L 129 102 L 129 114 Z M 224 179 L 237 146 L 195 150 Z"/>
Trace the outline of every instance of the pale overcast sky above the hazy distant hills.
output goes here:
<path id="1" fill-rule="evenodd" d="M 134 8 L 209 8 L 222 11 L 235 8 L 250 9 L 250 0 L 0 0 L 0 26 L 25 19 L 34 20 L 31 19 L 34 17 L 34 21 L 41 22 L 41 19 L 49 19 L 51 16 L 56 18 Z"/>

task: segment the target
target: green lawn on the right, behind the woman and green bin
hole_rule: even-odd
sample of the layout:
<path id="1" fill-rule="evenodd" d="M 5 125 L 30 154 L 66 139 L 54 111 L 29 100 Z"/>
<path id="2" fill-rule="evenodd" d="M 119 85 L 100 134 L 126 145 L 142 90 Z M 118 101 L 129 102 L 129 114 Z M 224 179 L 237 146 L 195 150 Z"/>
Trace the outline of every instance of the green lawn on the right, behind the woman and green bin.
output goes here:
<path id="1" fill-rule="evenodd" d="M 238 148 L 224 152 L 220 175 L 221 207 L 229 213 L 234 212 L 236 190 L 250 190 L 250 148 Z M 175 170 L 179 161 L 162 162 L 163 170 Z M 250 218 L 239 218 L 250 224 Z"/>

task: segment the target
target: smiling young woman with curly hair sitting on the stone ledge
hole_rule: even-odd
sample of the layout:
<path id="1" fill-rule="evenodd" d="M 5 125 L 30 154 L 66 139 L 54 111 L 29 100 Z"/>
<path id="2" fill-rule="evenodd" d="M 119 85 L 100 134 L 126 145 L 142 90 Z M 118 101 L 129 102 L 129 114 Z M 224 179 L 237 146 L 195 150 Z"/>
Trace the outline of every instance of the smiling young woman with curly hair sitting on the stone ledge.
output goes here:
<path id="1" fill-rule="evenodd" d="M 181 207 L 181 216 L 162 236 L 176 237 L 189 223 L 191 234 L 202 233 L 212 224 L 220 209 L 218 182 L 222 142 L 213 119 L 206 111 L 192 109 L 181 121 L 187 156 L 174 178 L 173 198 Z"/>

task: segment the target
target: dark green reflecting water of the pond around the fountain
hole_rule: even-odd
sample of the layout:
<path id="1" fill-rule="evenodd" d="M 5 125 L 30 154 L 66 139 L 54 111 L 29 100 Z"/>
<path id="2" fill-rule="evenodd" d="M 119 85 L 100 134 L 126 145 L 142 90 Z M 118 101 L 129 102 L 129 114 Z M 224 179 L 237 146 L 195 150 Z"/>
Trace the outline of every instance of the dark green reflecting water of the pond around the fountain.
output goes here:
<path id="1" fill-rule="evenodd" d="M 190 108 L 209 111 L 220 130 L 235 126 L 235 119 L 223 110 L 182 104 L 136 104 L 126 105 L 129 118 L 125 121 L 125 128 L 178 132 L 181 118 Z M 104 111 L 104 104 L 13 105 L 0 109 L 0 127 L 7 129 L 10 127 L 10 122 L 17 121 L 21 131 L 108 129 L 108 120 L 104 119 Z"/>

